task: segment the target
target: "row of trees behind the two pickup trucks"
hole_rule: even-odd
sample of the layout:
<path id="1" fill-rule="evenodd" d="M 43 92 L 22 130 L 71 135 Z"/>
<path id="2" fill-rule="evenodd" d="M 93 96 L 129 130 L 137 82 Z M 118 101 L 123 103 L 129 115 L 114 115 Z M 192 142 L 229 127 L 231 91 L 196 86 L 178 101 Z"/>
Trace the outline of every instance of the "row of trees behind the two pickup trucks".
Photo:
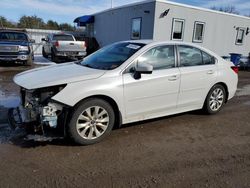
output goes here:
<path id="1" fill-rule="evenodd" d="M 53 20 L 44 22 L 42 18 L 37 16 L 22 16 L 19 21 L 11 22 L 4 16 L 0 16 L 0 28 L 30 28 L 30 29 L 51 29 L 73 31 L 75 28 L 68 23 L 57 23 Z"/>

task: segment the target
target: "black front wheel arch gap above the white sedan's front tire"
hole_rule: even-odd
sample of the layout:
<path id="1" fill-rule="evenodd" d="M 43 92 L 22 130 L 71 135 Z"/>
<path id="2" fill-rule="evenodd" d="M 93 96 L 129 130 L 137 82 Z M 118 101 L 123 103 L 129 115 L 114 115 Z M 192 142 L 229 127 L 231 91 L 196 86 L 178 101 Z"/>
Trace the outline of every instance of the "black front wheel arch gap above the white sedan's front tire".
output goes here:
<path id="1" fill-rule="evenodd" d="M 84 102 L 86 100 L 94 99 L 94 98 L 96 98 L 96 99 L 102 99 L 102 100 L 108 102 L 111 105 L 111 107 L 113 108 L 114 113 L 115 113 L 115 125 L 114 125 L 114 128 L 121 127 L 121 125 L 122 125 L 122 114 L 121 114 L 121 111 L 120 111 L 120 109 L 118 107 L 118 104 L 117 104 L 117 102 L 113 98 L 111 98 L 111 97 L 109 97 L 107 95 L 92 95 L 92 96 L 88 96 L 88 97 L 80 100 L 78 103 L 76 103 L 74 105 L 74 107 L 78 106 L 80 103 L 82 103 L 82 102 Z"/>

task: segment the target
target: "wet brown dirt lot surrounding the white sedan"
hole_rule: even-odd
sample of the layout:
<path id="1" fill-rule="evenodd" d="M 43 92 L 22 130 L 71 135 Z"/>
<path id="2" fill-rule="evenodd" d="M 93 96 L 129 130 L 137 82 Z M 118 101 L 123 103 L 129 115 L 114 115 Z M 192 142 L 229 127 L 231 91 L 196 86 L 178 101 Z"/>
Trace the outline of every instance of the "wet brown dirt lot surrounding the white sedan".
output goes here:
<path id="1" fill-rule="evenodd" d="M 19 102 L 12 78 L 27 68 L 0 67 L 0 187 L 250 187 L 250 72 L 216 115 L 129 124 L 83 147 L 9 130 L 6 110 Z"/>

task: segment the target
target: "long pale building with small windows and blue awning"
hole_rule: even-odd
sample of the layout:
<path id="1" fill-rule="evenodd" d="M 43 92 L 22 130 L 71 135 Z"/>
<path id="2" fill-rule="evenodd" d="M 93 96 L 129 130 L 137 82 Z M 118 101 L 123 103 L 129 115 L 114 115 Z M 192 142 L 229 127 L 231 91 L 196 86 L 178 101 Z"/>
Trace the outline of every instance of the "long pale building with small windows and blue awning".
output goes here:
<path id="1" fill-rule="evenodd" d="M 100 46 L 120 40 L 197 43 L 221 56 L 250 52 L 250 18 L 165 0 L 147 0 L 75 19 Z"/>

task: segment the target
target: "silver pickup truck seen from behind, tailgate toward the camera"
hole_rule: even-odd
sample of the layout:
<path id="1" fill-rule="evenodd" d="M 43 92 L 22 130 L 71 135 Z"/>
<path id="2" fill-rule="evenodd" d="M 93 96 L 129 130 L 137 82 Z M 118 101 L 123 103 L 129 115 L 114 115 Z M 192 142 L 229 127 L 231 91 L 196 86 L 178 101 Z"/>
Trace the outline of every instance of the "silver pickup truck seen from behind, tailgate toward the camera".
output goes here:
<path id="1" fill-rule="evenodd" d="M 51 56 L 51 60 L 58 63 L 62 59 L 83 59 L 86 56 L 86 44 L 84 41 L 76 41 L 71 34 L 49 34 L 42 38 L 42 54 L 45 58 Z"/>

